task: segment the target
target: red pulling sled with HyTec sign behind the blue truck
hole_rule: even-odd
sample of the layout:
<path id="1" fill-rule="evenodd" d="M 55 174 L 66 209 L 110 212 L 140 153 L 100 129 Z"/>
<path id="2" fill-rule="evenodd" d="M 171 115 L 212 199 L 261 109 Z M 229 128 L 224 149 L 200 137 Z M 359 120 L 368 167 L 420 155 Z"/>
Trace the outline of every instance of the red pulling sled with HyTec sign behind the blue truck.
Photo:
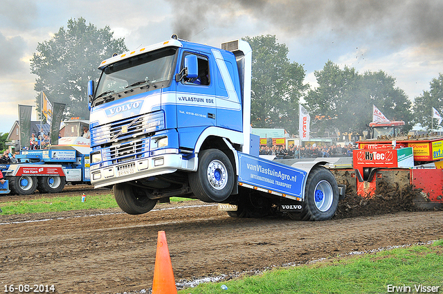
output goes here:
<path id="1" fill-rule="evenodd" d="M 371 122 L 370 138 L 358 141 L 353 169 L 332 169 L 338 183 L 362 197 L 390 191 L 418 192 L 413 203 L 420 209 L 443 203 L 443 136 L 402 133 L 402 121 Z"/>

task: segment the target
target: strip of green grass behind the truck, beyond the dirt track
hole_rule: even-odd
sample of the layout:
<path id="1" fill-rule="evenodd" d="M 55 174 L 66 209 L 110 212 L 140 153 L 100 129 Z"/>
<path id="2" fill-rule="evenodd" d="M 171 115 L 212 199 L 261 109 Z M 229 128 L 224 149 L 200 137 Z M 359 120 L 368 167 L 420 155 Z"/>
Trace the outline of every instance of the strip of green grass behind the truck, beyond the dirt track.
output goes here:
<path id="1" fill-rule="evenodd" d="M 171 201 L 186 201 L 179 197 L 171 197 Z M 20 201 L 8 201 L 0 204 L 3 212 L 6 214 L 26 214 L 39 212 L 64 212 L 70 210 L 90 210 L 118 208 L 113 194 L 102 194 L 87 196 L 87 200 L 82 202 L 82 196 L 60 196 L 54 198 L 40 198 Z"/>

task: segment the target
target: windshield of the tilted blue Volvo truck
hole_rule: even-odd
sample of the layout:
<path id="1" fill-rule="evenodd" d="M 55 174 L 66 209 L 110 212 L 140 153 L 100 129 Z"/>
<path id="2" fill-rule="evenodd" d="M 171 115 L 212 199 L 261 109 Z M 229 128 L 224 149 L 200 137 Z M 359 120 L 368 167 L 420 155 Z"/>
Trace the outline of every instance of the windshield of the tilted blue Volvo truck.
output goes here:
<path id="1" fill-rule="evenodd" d="M 157 82 L 170 81 L 174 73 L 176 52 L 177 48 L 174 47 L 162 48 L 105 67 L 98 82 L 95 100 L 135 86 L 154 89 Z"/>

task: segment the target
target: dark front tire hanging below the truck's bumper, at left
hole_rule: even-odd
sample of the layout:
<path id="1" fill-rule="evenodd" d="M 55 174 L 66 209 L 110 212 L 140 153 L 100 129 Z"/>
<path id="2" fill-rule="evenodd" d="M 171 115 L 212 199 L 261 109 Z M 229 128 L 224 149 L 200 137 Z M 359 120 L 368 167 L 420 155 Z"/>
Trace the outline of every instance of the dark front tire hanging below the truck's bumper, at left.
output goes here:
<path id="1" fill-rule="evenodd" d="M 143 214 L 156 205 L 157 201 L 150 199 L 143 189 L 120 183 L 114 185 L 114 198 L 121 210 L 127 214 Z"/>

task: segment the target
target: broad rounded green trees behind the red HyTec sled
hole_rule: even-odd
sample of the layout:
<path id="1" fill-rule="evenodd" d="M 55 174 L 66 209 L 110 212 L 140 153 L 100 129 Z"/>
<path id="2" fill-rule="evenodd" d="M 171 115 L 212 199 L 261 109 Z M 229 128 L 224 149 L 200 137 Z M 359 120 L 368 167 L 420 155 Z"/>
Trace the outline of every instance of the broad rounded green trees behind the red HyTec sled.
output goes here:
<path id="1" fill-rule="evenodd" d="M 328 61 L 314 75 L 318 87 L 309 91 L 305 100 L 313 127 L 320 134 L 326 129 L 361 133 L 372 121 L 373 104 L 390 120 L 406 124 L 412 120 L 406 94 L 395 86 L 395 78 L 383 71 L 362 75 L 355 68 L 345 66 L 342 70 Z"/>

